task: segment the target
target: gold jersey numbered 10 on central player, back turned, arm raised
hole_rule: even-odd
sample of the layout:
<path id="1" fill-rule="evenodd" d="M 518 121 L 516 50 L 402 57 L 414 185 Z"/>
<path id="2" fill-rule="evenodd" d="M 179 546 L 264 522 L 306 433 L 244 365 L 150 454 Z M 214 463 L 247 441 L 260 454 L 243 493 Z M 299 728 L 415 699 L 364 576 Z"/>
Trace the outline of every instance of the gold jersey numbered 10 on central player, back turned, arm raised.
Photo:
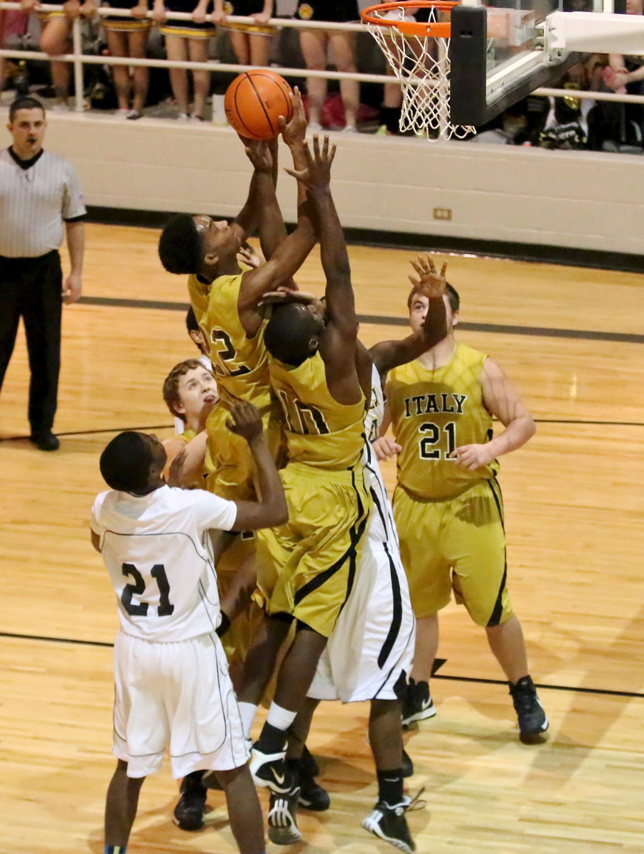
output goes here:
<path id="1" fill-rule="evenodd" d="M 364 447 L 364 397 L 345 406 L 328 390 L 322 356 L 296 368 L 270 359 L 270 382 L 286 419 L 289 462 L 346 469 Z"/>

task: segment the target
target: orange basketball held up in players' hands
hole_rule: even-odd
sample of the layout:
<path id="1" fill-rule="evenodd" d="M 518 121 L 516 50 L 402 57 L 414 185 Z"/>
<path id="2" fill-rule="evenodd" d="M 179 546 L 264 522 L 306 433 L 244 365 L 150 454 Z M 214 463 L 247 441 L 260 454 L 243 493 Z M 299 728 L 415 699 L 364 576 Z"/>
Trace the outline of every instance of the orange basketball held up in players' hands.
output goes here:
<path id="1" fill-rule="evenodd" d="M 223 108 L 229 125 L 242 137 L 272 139 L 280 132 L 279 117 L 288 121 L 293 115 L 287 81 L 270 71 L 258 68 L 244 71 L 226 90 Z"/>

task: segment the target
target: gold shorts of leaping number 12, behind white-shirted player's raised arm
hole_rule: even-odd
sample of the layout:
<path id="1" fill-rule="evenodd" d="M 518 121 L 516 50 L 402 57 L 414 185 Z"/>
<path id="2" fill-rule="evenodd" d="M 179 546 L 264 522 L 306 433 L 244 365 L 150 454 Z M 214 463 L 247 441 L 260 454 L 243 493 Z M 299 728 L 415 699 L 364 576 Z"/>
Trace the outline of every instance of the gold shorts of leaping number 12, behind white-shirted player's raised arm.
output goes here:
<path id="1" fill-rule="evenodd" d="M 256 499 L 256 471 L 246 439 L 237 436 L 226 426 L 230 411 L 218 401 L 206 421 L 208 453 L 212 473 L 206 477 L 206 489 L 228 500 Z M 278 459 L 282 442 L 282 424 L 272 410 L 262 416 L 273 459 Z"/>

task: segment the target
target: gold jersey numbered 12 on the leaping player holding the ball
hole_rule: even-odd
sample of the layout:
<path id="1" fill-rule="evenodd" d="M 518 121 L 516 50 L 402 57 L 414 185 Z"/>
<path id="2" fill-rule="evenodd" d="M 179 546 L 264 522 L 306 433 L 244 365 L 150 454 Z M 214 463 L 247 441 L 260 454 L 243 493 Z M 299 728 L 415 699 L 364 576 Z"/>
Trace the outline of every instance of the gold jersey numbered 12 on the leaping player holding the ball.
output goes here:
<path id="1" fill-rule="evenodd" d="M 194 316 L 210 344 L 212 372 L 224 402 L 250 401 L 260 412 L 270 405 L 270 379 L 264 325 L 248 338 L 241 325 L 237 302 L 243 272 L 218 276 L 212 284 L 188 279 Z"/>

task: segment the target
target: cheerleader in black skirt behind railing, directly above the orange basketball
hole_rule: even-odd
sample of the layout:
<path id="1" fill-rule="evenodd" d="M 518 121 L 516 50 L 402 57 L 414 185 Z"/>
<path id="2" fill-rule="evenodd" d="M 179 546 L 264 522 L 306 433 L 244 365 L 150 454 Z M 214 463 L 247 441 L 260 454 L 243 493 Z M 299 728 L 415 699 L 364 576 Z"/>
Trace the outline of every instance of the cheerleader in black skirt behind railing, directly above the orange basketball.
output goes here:
<path id="1" fill-rule="evenodd" d="M 227 15 L 246 15 L 253 24 L 229 24 Z M 269 64 L 270 37 L 277 32 L 266 21 L 273 16 L 273 0 L 215 0 L 213 20 L 230 32 L 230 44 L 240 65 L 265 68 Z"/>

